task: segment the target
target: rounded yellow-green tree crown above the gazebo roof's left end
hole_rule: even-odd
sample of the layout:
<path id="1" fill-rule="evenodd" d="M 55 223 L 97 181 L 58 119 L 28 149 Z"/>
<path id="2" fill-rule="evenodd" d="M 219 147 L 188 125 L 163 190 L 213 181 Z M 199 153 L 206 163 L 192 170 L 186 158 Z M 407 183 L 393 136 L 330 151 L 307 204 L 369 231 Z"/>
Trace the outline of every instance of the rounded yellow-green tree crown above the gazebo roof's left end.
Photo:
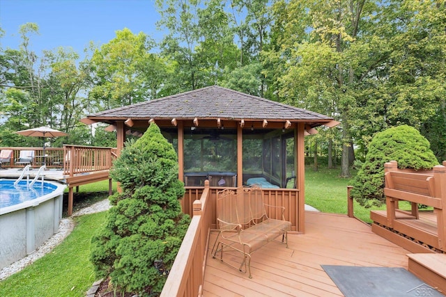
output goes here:
<path id="1" fill-rule="evenodd" d="M 96 49 L 91 58 L 93 88 L 90 97 L 101 109 L 111 109 L 153 98 L 162 75 L 161 61 L 148 51 L 153 43 L 142 32 L 133 34 L 129 29 L 116 31 L 116 38 Z M 159 72 L 158 72 L 159 71 Z"/>

